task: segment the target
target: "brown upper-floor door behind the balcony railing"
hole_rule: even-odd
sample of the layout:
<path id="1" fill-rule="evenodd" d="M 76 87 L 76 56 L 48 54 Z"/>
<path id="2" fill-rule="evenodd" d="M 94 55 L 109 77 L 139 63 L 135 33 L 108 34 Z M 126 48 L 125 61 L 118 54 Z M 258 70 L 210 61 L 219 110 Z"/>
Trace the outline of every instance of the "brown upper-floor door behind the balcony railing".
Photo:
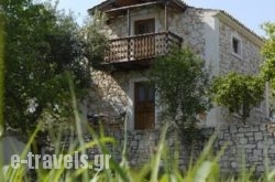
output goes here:
<path id="1" fill-rule="evenodd" d="M 155 55 L 155 19 L 139 20 L 134 22 L 134 57 L 148 58 Z M 148 35 L 146 35 L 148 34 Z"/>

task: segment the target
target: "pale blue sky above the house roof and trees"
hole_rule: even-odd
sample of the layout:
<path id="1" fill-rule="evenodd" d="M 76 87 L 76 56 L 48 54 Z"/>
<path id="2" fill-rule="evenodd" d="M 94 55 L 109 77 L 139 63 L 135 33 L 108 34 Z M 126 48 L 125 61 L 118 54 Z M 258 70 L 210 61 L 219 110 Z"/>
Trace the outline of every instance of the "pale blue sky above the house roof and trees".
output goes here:
<path id="1" fill-rule="evenodd" d="M 87 15 L 87 9 L 102 2 L 102 0 L 59 0 L 59 9 L 73 10 L 79 22 Z M 275 22 L 274 0 L 185 0 L 193 7 L 221 9 L 240 20 L 260 35 L 264 32 L 260 28 L 263 22 Z"/>

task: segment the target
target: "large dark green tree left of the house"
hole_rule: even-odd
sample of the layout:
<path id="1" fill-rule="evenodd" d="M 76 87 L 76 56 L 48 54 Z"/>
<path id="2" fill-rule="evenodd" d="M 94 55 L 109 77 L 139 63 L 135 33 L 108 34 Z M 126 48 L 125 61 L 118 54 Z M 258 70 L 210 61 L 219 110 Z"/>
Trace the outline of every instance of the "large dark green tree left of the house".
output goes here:
<path id="1" fill-rule="evenodd" d="M 73 120 L 68 76 L 78 98 L 89 87 L 87 40 L 72 14 L 50 3 L 3 0 L 4 127 L 21 131 L 38 120 Z M 94 53 L 96 55 L 96 53 Z"/>

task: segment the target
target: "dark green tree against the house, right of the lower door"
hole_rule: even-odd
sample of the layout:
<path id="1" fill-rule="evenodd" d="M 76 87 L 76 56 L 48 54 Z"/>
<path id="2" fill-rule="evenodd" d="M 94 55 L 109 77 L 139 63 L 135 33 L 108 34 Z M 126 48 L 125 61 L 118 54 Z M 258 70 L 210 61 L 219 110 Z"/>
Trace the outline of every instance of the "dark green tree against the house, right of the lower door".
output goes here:
<path id="1" fill-rule="evenodd" d="M 175 49 L 153 64 L 150 79 L 160 95 L 164 114 L 182 128 L 193 128 L 197 115 L 207 110 L 209 76 L 205 62 L 189 47 Z"/>

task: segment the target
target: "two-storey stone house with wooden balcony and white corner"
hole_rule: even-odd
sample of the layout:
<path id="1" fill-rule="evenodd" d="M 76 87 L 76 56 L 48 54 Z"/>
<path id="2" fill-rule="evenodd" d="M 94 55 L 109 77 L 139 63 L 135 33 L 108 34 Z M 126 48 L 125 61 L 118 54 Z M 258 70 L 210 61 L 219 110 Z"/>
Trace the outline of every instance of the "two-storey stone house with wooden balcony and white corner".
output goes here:
<path id="1" fill-rule="evenodd" d="M 129 130 L 160 128 L 160 107 L 154 89 L 144 84 L 145 73 L 172 44 L 189 45 L 212 75 L 256 74 L 263 62 L 263 39 L 222 10 L 194 8 L 180 0 L 106 0 L 88 11 L 96 10 L 108 15 L 110 50 L 105 64 L 112 69 L 94 69 L 92 90 L 84 105 L 87 115 L 105 114 L 110 120 L 125 116 Z M 251 120 L 268 117 L 267 94 Z M 201 124 L 226 125 L 228 116 L 216 107 Z"/>

